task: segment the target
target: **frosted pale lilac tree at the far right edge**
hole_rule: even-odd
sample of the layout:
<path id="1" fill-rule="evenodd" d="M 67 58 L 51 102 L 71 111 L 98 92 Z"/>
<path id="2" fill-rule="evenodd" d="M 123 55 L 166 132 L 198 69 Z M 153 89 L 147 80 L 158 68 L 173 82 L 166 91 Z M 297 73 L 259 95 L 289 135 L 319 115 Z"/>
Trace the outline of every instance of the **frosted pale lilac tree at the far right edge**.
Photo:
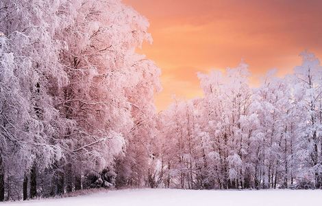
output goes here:
<path id="1" fill-rule="evenodd" d="M 322 186 L 321 168 L 321 78 L 322 67 L 314 54 L 303 52 L 302 65 L 295 67 L 293 101 L 299 115 L 295 126 L 298 139 L 295 145 L 299 158 L 299 176 L 314 179 L 315 187 Z"/>

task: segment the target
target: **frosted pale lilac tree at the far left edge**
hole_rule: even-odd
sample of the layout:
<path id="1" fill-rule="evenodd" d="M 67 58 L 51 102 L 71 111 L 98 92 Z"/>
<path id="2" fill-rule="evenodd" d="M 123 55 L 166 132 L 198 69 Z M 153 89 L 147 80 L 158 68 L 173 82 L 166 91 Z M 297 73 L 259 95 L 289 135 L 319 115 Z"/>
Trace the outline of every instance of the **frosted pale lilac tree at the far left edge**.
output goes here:
<path id="1" fill-rule="evenodd" d="M 7 181 L 14 177 L 20 183 L 24 176 L 23 198 L 29 179 L 34 197 L 38 172 L 62 156 L 51 140 L 63 133 L 65 124 L 53 102 L 67 80 L 58 59 L 62 44 L 55 38 L 63 18 L 55 15 L 58 2 L 1 1 L 0 8 L 3 171 Z M 21 190 L 6 191 L 7 199 L 21 196 Z"/>

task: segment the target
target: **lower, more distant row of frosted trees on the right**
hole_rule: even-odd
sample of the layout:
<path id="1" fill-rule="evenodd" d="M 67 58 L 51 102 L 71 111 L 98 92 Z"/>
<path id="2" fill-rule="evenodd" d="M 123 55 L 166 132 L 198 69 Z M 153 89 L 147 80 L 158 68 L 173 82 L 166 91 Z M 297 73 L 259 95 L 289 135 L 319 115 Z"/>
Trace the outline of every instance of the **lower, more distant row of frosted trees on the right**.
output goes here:
<path id="1" fill-rule="evenodd" d="M 199 73 L 204 98 L 160 114 L 153 187 L 321 188 L 322 67 L 308 52 L 285 78 L 249 87 L 247 65 Z"/>

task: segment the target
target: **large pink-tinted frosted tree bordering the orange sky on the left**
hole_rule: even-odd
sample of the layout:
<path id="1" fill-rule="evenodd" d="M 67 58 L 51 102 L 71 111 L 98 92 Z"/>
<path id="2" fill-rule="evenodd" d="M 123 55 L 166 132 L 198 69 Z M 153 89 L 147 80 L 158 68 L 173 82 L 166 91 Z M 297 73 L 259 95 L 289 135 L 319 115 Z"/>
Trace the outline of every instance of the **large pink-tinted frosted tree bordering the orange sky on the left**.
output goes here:
<path id="1" fill-rule="evenodd" d="M 69 148 L 74 147 L 75 154 L 67 163 L 80 157 L 87 170 L 108 166 L 114 172 L 114 157 L 125 152 L 125 142 L 126 156 L 135 158 L 131 153 L 134 142 L 147 142 L 154 133 L 150 131 L 153 119 L 147 117 L 153 118 L 153 92 L 158 90 L 160 72 L 145 56 L 135 54 L 136 47 L 150 41 L 149 24 L 119 1 L 84 1 L 74 21 L 60 34 L 69 45 L 62 60 L 71 81 L 65 88 L 61 108 L 78 126 L 71 128 L 75 136 L 69 135 L 69 144 L 73 144 Z M 137 140 L 135 133 L 146 133 L 146 137 Z M 146 158 L 146 149 L 143 145 L 135 152 L 144 152 Z M 72 170 L 78 165 L 75 162 Z M 146 165 L 138 165 L 137 169 L 145 168 Z M 79 171 L 79 175 L 84 173 Z"/>

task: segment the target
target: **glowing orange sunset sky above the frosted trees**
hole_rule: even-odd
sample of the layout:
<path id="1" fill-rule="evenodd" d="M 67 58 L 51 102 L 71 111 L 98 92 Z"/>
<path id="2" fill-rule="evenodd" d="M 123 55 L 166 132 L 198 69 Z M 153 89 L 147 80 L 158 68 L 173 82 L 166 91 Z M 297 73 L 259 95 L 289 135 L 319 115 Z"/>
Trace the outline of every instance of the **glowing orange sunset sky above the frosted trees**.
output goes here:
<path id="1" fill-rule="evenodd" d="M 299 65 L 305 49 L 322 60 L 322 1 L 123 0 L 149 19 L 153 44 L 142 52 L 162 69 L 159 110 L 201 96 L 197 71 L 236 67 L 243 58 L 253 82 L 272 68 Z"/>

